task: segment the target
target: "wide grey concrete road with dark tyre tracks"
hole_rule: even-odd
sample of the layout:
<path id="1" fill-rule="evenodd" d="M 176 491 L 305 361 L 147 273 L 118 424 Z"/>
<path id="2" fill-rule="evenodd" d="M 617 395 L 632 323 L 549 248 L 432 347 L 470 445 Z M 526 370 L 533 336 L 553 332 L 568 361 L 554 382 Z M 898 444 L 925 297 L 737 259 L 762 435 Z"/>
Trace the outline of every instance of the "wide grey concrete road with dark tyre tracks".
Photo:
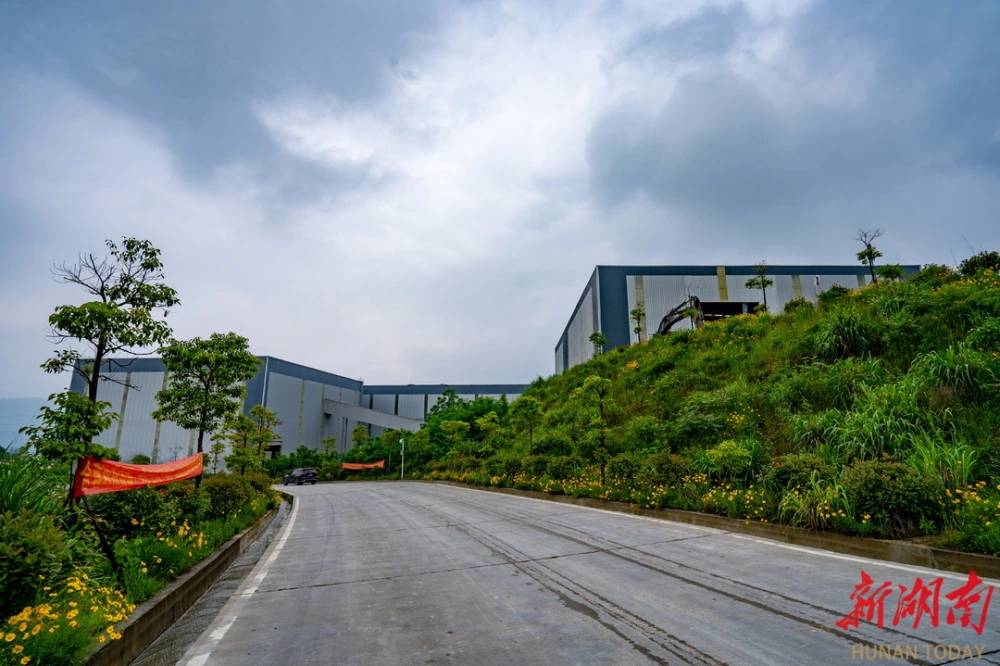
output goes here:
<path id="1" fill-rule="evenodd" d="M 181 663 L 1000 664 L 1000 617 L 982 635 L 946 621 L 962 574 L 438 484 L 293 492 Z M 893 626 L 894 593 L 883 628 L 839 628 L 861 570 L 910 589 L 943 577 L 939 626 Z"/>

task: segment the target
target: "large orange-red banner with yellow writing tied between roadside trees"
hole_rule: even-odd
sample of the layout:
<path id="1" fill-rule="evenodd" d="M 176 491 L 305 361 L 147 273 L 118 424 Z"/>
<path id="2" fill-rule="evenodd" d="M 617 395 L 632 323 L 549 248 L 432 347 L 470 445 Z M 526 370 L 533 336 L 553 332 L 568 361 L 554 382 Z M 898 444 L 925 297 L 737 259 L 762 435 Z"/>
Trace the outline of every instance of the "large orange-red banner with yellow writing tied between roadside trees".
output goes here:
<path id="1" fill-rule="evenodd" d="M 76 468 L 73 497 L 133 490 L 146 486 L 190 479 L 201 474 L 202 455 L 196 453 L 171 463 L 159 465 L 129 465 L 114 460 L 98 460 L 90 456 Z"/>

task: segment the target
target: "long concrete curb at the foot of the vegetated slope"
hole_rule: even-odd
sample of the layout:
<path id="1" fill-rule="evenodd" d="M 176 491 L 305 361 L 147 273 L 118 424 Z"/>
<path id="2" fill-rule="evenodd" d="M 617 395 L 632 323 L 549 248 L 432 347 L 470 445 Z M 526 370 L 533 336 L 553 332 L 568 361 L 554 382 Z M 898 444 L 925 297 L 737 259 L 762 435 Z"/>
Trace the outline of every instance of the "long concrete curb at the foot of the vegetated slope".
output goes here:
<path id="1" fill-rule="evenodd" d="M 754 521 L 739 520 L 736 518 L 725 518 L 710 513 L 700 513 L 698 511 L 683 511 L 681 509 L 644 509 L 633 504 L 624 502 L 612 502 L 610 500 L 599 500 L 591 497 L 572 497 L 570 495 L 556 495 L 543 493 L 536 490 L 518 490 L 516 488 L 496 488 L 493 486 L 474 486 L 457 481 L 426 481 L 425 483 L 438 483 L 460 488 L 470 488 L 472 490 L 482 490 L 484 492 L 501 493 L 504 495 L 515 495 L 518 497 L 530 497 L 532 499 L 546 500 L 560 504 L 575 504 L 577 506 L 590 507 L 592 509 L 603 509 L 605 511 L 615 511 L 618 513 L 628 513 L 636 516 L 648 516 L 677 523 L 687 523 L 689 525 L 699 525 L 701 527 L 712 527 L 726 532 L 746 534 L 749 536 L 781 541 L 783 543 L 805 546 L 807 548 L 819 548 L 835 553 L 846 555 L 857 555 L 886 562 L 897 562 L 899 564 L 910 564 L 929 569 L 942 569 L 948 571 L 960 571 L 968 573 L 975 571 L 977 575 L 984 578 L 1000 579 L 1000 558 L 991 555 L 978 555 L 975 553 L 962 553 L 955 550 L 945 550 L 942 548 L 932 548 L 902 541 L 887 541 L 882 539 L 865 539 L 862 537 L 845 536 L 832 532 L 819 532 L 806 530 L 799 527 L 789 527 L 787 525 L 774 525 L 771 523 L 761 523 Z"/>

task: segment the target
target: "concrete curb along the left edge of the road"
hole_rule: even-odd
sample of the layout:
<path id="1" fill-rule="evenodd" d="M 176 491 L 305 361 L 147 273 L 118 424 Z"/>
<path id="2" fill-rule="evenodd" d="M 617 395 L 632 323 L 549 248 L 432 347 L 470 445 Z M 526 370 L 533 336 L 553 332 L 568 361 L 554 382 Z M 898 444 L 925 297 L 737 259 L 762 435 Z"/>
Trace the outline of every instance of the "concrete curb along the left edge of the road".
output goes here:
<path id="1" fill-rule="evenodd" d="M 119 627 L 122 637 L 97 648 L 87 658 L 87 666 L 126 666 L 131 663 L 212 586 L 233 560 L 267 529 L 276 515 L 278 509 L 271 509 L 152 599 L 139 604 Z"/>

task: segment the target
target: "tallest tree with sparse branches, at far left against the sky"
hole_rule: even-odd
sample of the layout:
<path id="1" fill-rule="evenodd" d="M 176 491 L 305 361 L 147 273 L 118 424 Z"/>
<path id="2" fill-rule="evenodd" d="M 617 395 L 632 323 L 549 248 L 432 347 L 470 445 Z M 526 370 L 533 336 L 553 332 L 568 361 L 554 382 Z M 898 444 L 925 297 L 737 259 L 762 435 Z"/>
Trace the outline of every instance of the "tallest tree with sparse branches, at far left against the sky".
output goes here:
<path id="1" fill-rule="evenodd" d="M 158 345 L 170 337 L 167 324 L 154 317 L 180 303 L 177 292 L 162 283 L 160 251 L 149 241 L 122 238 L 121 243 L 105 241 L 109 256 L 99 260 L 81 254 L 79 263 L 65 263 L 52 270 L 56 279 L 75 284 L 94 300 L 81 305 L 60 305 L 49 317 L 56 344 L 78 340 L 90 345 L 87 362 L 77 350 L 61 349 L 42 364 L 45 372 L 71 370 L 83 377 L 87 397 L 97 400 L 97 382 L 105 360 L 118 353 L 136 355 L 145 347 Z M 107 363 L 110 370 L 110 360 Z"/>

